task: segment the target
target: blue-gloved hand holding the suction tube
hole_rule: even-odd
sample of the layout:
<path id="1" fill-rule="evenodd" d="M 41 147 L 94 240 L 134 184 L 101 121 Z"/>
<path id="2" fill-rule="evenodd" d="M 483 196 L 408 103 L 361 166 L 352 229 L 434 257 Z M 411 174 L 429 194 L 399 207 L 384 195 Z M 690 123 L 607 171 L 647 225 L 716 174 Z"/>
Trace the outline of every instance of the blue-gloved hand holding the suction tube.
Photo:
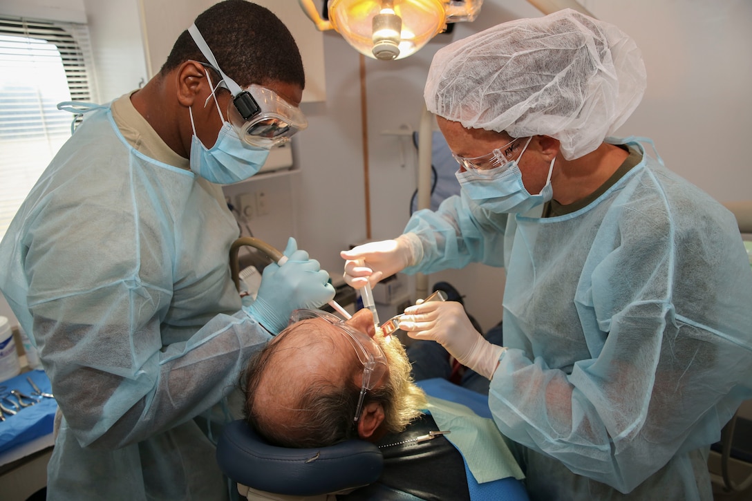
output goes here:
<path id="1" fill-rule="evenodd" d="M 295 238 L 287 241 L 284 256 L 279 261 L 281 266 L 271 263 L 264 268 L 256 301 L 244 307 L 274 335 L 287 326 L 293 310 L 319 308 L 335 294 L 329 273 L 317 260 L 308 259 L 305 250 L 298 250 Z"/>

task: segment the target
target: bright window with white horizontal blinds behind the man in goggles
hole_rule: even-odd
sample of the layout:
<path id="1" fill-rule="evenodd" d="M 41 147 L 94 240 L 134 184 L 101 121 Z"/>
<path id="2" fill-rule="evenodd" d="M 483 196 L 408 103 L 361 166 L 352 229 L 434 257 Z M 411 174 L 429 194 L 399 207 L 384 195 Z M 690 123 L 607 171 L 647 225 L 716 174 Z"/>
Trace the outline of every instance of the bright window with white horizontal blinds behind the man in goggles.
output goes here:
<path id="1" fill-rule="evenodd" d="M 0 238 L 71 135 L 62 101 L 96 99 L 86 25 L 0 16 Z"/>

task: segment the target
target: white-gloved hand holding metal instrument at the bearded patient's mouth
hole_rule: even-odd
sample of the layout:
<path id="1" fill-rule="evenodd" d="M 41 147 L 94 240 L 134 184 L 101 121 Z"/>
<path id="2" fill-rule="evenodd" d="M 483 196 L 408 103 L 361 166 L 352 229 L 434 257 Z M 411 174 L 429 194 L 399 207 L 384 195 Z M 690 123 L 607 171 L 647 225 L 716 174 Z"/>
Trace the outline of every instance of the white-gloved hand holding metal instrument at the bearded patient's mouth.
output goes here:
<path id="1" fill-rule="evenodd" d="M 405 308 L 399 328 L 412 339 L 438 342 L 463 366 L 489 379 L 507 349 L 487 342 L 456 301 L 430 301 Z"/>

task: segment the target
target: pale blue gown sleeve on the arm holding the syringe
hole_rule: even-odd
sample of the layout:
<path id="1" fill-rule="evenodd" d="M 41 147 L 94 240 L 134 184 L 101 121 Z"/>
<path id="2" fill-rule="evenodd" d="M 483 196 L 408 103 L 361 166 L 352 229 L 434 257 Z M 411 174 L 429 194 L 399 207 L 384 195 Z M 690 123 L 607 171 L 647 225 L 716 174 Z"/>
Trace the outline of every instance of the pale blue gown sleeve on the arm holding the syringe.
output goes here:
<path id="1" fill-rule="evenodd" d="M 405 268 L 408 275 L 460 269 L 469 263 L 504 266 L 507 214 L 493 214 L 464 192 L 441 202 L 436 211 L 415 212 L 404 233 L 417 235 L 423 259 Z"/>

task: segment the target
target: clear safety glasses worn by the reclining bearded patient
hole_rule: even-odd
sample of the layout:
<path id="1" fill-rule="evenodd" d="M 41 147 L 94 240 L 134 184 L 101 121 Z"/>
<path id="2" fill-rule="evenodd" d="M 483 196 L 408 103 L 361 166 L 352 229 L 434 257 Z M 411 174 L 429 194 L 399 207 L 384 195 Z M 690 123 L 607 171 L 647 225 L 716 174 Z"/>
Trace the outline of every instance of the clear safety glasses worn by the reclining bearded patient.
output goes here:
<path id="1" fill-rule="evenodd" d="M 353 326 L 347 325 L 340 317 L 326 311 L 306 309 L 293 311 L 293 314 L 290 315 L 289 325 L 308 318 L 323 318 L 323 320 L 336 326 L 338 332 L 350 342 L 350 345 L 352 345 L 358 356 L 358 360 L 363 364 L 360 396 L 358 397 L 358 406 L 355 409 L 355 417 L 353 418 L 353 421 L 357 422 L 360 419 L 360 411 L 362 411 L 366 390 L 373 390 L 376 384 L 387 373 L 387 357 L 384 356 L 384 351 L 381 350 L 378 342 L 371 339 L 371 336 L 368 336 L 365 332 L 360 332 Z"/>

